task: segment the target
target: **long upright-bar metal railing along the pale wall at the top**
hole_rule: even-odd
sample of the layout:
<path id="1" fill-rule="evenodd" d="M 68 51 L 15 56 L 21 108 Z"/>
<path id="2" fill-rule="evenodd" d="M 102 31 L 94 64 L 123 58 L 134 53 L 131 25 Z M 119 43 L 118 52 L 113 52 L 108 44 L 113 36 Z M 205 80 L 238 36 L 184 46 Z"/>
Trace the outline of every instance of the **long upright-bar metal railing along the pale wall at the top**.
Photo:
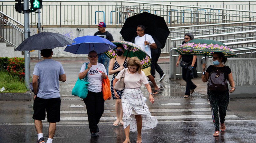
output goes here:
<path id="1" fill-rule="evenodd" d="M 221 1 L 223 2 L 223 1 Z M 23 14 L 15 12 L 14 1 L 2 1 L 0 11 L 23 23 Z M 141 12 L 164 17 L 168 26 L 226 23 L 256 20 L 256 11 L 228 9 L 227 7 L 199 7 L 138 1 L 43 1 L 41 24 L 46 25 L 122 25 L 125 19 Z M 32 13 L 30 25 L 37 24 L 37 14 Z"/>

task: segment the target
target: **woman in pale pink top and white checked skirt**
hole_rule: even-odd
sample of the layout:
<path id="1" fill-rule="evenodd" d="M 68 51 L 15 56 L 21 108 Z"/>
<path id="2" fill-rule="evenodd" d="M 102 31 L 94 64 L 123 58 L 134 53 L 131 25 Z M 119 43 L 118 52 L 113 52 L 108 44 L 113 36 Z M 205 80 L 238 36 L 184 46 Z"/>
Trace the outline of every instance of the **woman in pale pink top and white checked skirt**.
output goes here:
<path id="1" fill-rule="evenodd" d="M 141 92 L 140 88 L 142 83 L 149 92 L 149 100 L 152 104 L 154 103 L 154 98 L 146 75 L 141 71 L 140 60 L 137 57 L 130 58 L 127 62 L 127 67 L 127 69 L 121 70 L 115 77 L 113 87 L 115 87 L 115 83 L 125 72 L 125 88 L 121 98 L 125 131 L 124 143 L 130 143 L 130 131 L 138 131 L 136 143 L 141 143 L 141 130 L 152 129 L 156 127 L 157 124 L 157 119 L 151 116 L 146 105 L 146 98 Z M 115 94 L 115 97 L 119 98 L 119 95 Z"/>

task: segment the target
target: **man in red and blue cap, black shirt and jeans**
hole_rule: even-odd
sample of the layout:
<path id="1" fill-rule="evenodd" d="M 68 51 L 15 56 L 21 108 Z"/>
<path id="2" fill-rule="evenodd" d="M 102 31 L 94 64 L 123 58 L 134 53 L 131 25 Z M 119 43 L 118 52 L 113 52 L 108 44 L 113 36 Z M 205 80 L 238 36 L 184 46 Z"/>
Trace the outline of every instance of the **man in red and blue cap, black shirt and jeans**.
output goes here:
<path id="1" fill-rule="evenodd" d="M 106 24 L 104 22 L 99 23 L 98 29 L 99 29 L 99 31 L 94 33 L 94 36 L 100 36 L 100 37 L 105 38 L 109 41 L 114 41 L 114 38 L 110 34 L 110 32 L 105 30 L 106 29 Z M 103 53 L 98 54 L 98 62 L 101 63 L 101 64 L 104 64 L 105 69 L 107 71 L 107 75 L 108 75 L 108 69 L 109 69 L 109 61 L 110 61 L 110 59 L 106 55 L 104 55 Z"/>

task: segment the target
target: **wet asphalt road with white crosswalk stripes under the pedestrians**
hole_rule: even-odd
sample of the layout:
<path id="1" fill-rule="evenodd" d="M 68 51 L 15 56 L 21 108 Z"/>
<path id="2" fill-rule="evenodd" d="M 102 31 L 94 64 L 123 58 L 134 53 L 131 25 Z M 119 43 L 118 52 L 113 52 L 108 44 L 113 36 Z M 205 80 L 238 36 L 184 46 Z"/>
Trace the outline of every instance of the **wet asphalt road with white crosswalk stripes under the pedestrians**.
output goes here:
<path id="1" fill-rule="evenodd" d="M 31 62 L 31 73 L 34 64 Z M 60 83 L 61 122 L 57 123 L 54 143 L 120 143 L 125 140 L 123 126 L 113 126 L 115 121 L 115 101 L 105 101 L 105 111 L 100 120 L 97 138 L 90 137 L 87 112 L 84 102 L 73 95 L 71 90 L 77 79 L 78 71 L 84 61 L 61 61 L 67 75 L 67 81 Z M 160 65 L 169 73 L 169 65 Z M 112 76 L 109 76 L 111 79 Z M 156 79 L 159 79 L 157 74 Z M 255 99 L 231 99 L 226 116 L 226 131 L 219 137 L 213 137 L 214 125 L 211 121 L 211 109 L 201 85 L 190 98 L 183 98 L 185 86 L 182 82 L 168 79 L 158 82 L 160 94 L 155 103 L 147 101 L 152 116 L 156 116 L 156 128 L 142 130 L 143 143 L 254 143 L 256 142 Z M 152 85 L 151 85 L 152 87 Z M 141 90 L 146 93 L 146 88 Z M 198 92 L 197 92 L 198 91 Z M 147 97 L 148 95 L 146 95 Z M 148 98 L 148 97 L 147 97 Z M 0 102 L 0 141 L 3 143 L 35 142 L 37 133 L 33 124 L 33 100 L 24 102 Z M 43 121 L 44 137 L 48 138 L 48 123 Z M 136 132 L 130 132 L 130 140 L 136 142 Z"/>

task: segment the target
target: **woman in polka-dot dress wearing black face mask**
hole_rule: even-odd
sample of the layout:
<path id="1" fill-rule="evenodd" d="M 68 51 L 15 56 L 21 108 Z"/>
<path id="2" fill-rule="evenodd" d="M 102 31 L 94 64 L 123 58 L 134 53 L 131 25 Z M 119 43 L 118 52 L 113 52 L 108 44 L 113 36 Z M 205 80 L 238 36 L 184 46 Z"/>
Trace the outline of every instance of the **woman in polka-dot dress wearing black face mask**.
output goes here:
<path id="1" fill-rule="evenodd" d="M 124 46 L 122 44 L 118 44 L 115 50 L 115 54 L 117 56 L 116 58 L 111 59 L 109 63 L 109 74 L 110 75 L 114 74 L 111 80 L 111 93 L 112 93 L 113 99 L 115 99 L 115 112 L 116 112 L 116 121 L 113 123 L 114 126 L 118 126 L 119 124 L 121 125 L 124 124 L 122 121 L 123 110 L 121 106 L 121 96 L 123 94 L 123 90 L 114 91 L 114 88 L 113 88 L 113 80 L 115 79 L 115 76 L 119 74 L 119 72 L 122 69 L 127 68 L 126 64 L 127 64 L 127 60 L 129 60 L 129 57 L 127 57 L 127 60 L 125 60 L 125 56 L 123 55 L 124 50 L 125 50 Z M 115 93 L 118 94 L 120 97 L 116 98 Z"/>

